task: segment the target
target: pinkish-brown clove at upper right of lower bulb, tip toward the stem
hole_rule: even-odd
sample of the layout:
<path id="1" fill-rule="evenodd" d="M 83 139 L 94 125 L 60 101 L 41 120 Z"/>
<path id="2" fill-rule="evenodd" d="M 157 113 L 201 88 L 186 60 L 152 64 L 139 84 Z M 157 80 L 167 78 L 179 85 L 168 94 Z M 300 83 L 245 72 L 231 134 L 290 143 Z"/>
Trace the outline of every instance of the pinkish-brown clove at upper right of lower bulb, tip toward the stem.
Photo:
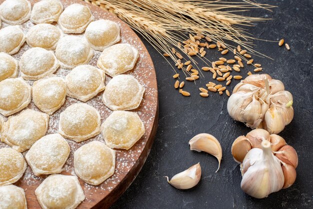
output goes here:
<path id="1" fill-rule="evenodd" d="M 294 168 L 298 166 L 298 155 L 292 146 L 284 145 L 278 151 L 274 152 L 275 156 L 284 163 L 292 165 Z"/>

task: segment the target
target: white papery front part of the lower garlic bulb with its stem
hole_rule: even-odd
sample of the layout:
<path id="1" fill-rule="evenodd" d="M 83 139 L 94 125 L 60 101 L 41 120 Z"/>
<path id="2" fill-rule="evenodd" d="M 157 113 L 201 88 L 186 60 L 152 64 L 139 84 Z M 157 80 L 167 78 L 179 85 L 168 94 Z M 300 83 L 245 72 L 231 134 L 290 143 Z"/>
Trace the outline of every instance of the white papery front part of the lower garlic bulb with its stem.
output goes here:
<path id="1" fill-rule="evenodd" d="M 270 142 L 264 140 L 260 148 L 252 148 L 242 162 L 241 189 L 255 198 L 264 198 L 279 191 L 284 183 L 280 161 L 271 152 Z"/>

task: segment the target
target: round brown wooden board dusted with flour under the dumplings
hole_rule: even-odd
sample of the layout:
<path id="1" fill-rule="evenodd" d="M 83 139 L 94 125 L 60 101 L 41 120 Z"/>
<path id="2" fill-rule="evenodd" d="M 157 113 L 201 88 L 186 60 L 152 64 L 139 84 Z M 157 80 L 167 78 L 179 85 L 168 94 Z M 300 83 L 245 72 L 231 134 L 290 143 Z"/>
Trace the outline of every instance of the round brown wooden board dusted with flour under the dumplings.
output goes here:
<path id="1" fill-rule="evenodd" d="M 37 1 L 38 0 L 30 0 L 32 5 Z M 2 2 L 3 0 L 0 0 L 0 3 Z M 79 204 L 78 208 L 91 208 L 91 207 L 107 208 L 127 189 L 130 183 L 134 180 L 150 151 L 156 131 L 158 114 L 155 71 L 152 60 L 145 46 L 143 45 L 139 37 L 132 31 L 132 29 L 126 23 L 121 21 L 113 14 L 104 11 L 103 9 L 100 9 L 95 5 L 91 5 L 90 3 L 86 3 L 81 0 L 61 0 L 61 2 L 63 3 L 64 7 L 72 3 L 80 3 L 86 5 L 91 9 L 96 20 L 109 19 L 117 22 L 121 28 L 120 42 L 129 43 L 133 45 L 135 48 L 137 48 L 139 51 L 139 58 L 134 69 L 126 72 L 126 74 L 131 74 L 135 76 L 139 80 L 139 82 L 143 84 L 145 87 L 145 93 L 140 106 L 137 109 L 133 110 L 139 114 L 141 120 L 144 122 L 145 134 L 129 150 L 115 149 L 116 150 L 115 172 L 106 181 L 99 184 L 98 186 L 93 186 L 79 179 L 80 185 L 83 188 L 86 198 L 81 204 Z M 33 24 L 28 20 L 27 22 L 23 23 L 21 27 L 23 31 L 26 33 L 32 25 Z M 7 26 L 7 24 L 2 22 L 2 28 L 5 26 Z M 25 43 L 21 47 L 20 51 L 14 54 L 13 57 L 19 60 L 21 54 L 27 49 L 29 49 L 29 46 Z M 94 52 L 95 54 L 91 61 L 89 62 L 89 64 L 96 66 L 96 60 L 100 54 L 100 51 Z M 68 72 L 69 70 L 59 68 L 55 72 L 55 74 L 64 77 Z M 107 84 L 109 80 L 110 77 L 106 76 L 105 83 Z M 29 84 L 32 84 L 32 82 L 33 81 L 28 81 Z M 111 110 L 104 106 L 104 104 L 102 103 L 101 101 L 102 93 L 103 92 L 100 92 L 98 95 L 88 100 L 86 103 L 94 106 L 96 109 L 100 111 L 103 121 L 111 113 Z M 70 104 L 76 102 L 80 101 L 74 98 L 66 97 L 65 103 L 62 105 L 62 107 L 58 109 L 55 113 L 53 113 L 53 115 L 50 116 L 47 134 L 57 132 L 59 113 L 62 112 Z M 39 109 L 32 102 L 27 106 L 27 108 L 39 111 Z M 75 175 L 73 170 L 73 152 L 81 145 L 88 143 L 92 140 L 103 141 L 103 138 L 101 134 L 99 134 L 95 137 L 92 137 L 80 143 L 76 143 L 72 140 L 66 139 L 66 141 L 70 145 L 71 151 L 65 165 L 63 166 L 63 171 L 61 172 L 61 174 Z M 0 148 L 5 146 L 7 145 L 0 142 Z M 26 152 L 27 151 L 24 151 L 23 155 L 25 155 Z M 21 179 L 14 183 L 17 186 L 24 188 L 28 208 L 40 208 L 34 190 L 46 176 L 47 175 L 39 177 L 35 176 L 31 171 L 31 168 L 27 166 L 27 169 L 24 175 L 21 177 Z"/>

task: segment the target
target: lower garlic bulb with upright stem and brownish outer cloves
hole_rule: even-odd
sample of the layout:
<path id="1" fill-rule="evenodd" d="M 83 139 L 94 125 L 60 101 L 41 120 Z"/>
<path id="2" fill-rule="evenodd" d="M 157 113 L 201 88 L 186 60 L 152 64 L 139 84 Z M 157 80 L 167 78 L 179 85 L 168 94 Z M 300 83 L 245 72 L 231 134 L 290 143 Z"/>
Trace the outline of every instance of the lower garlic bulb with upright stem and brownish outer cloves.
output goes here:
<path id="1" fill-rule="evenodd" d="M 296 151 L 279 135 L 260 128 L 251 130 L 233 141 L 231 154 L 241 163 L 242 190 L 255 198 L 266 197 L 295 181 Z"/>

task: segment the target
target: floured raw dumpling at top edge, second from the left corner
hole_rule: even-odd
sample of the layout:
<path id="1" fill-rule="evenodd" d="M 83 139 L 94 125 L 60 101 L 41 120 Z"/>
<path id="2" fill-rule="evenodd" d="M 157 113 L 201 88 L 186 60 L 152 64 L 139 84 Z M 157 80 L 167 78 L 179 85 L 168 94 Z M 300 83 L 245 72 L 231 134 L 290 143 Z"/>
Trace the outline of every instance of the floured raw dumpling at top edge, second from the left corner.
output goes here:
<path id="1" fill-rule="evenodd" d="M 52 23 L 58 20 L 63 8 L 59 0 L 40 0 L 33 4 L 30 21 L 35 24 Z"/>

